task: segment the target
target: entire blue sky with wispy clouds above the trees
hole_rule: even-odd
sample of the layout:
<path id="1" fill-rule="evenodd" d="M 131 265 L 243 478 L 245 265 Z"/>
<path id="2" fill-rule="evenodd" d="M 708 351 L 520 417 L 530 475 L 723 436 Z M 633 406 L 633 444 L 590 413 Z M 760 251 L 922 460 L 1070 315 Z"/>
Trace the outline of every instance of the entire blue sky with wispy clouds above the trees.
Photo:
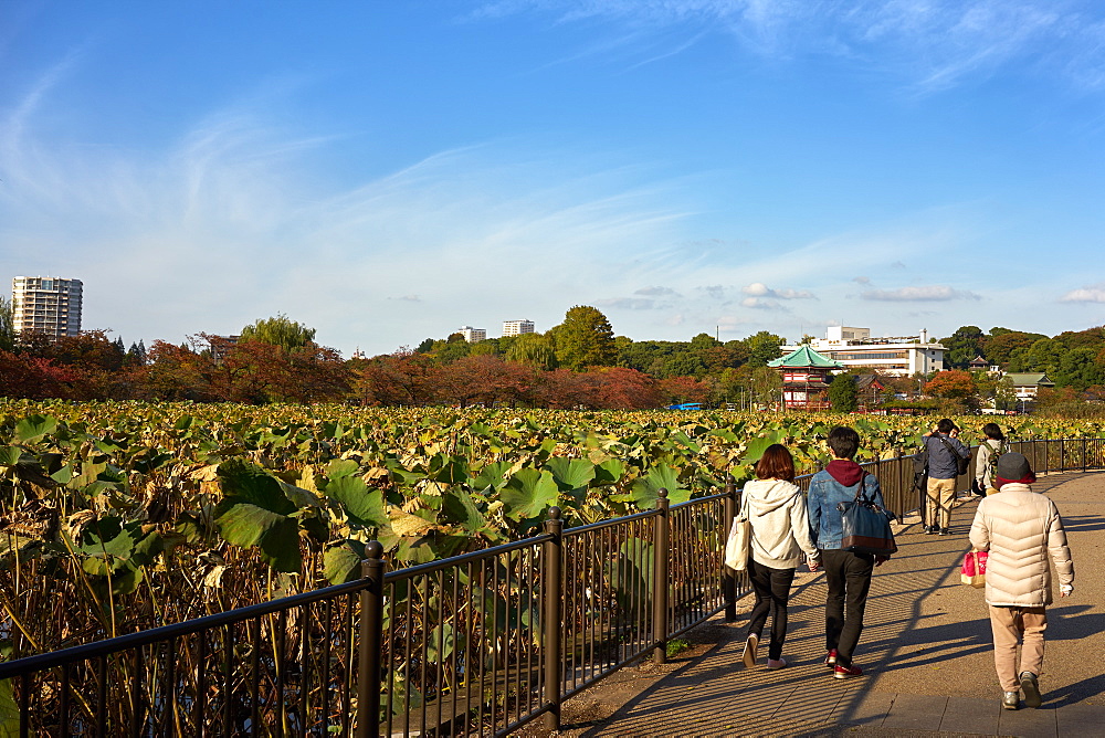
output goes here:
<path id="1" fill-rule="evenodd" d="M 1092 0 L 0 0 L 0 278 L 349 355 L 1105 323 Z"/>

